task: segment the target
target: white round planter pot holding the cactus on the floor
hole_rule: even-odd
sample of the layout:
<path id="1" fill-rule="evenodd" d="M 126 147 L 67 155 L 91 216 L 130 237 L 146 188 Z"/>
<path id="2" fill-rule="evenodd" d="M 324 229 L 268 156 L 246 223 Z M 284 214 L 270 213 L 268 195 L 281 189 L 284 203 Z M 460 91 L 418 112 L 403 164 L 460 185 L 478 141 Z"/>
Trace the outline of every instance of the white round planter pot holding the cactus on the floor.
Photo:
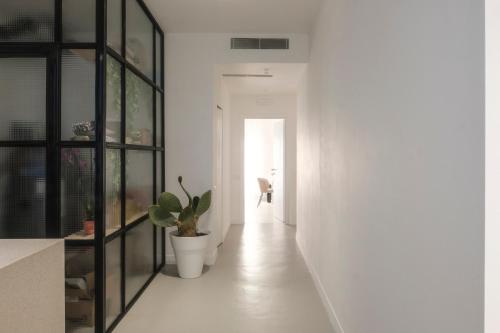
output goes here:
<path id="1" fill-rule="evenodd" d="M 181 278 L 195 279 L 201 276 L 209 240 L 209 232 L 197 237 L 179 237 L 177 231 L 170 233 L 177 270 Z"/>

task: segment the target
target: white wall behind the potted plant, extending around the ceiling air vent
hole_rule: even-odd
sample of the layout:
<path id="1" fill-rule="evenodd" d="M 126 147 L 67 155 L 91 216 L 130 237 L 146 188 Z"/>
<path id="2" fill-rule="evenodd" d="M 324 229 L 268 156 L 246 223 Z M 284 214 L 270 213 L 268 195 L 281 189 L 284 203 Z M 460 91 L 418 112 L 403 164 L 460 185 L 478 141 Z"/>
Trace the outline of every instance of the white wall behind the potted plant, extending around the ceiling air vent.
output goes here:
<path id="1" fill-rule="evenodd" d="M 166 34 L 166 190 L 181 194 L 176 183 L 183 175 L 194 193 L 213 189 L 213 112 L 217 103 L 217 64 L 307 62 L 307 35 L 279 35 L 290 38 L 290 50 L 230 50 L 231 34 Z M 257 36 L 257 37 L 267 37 Z M 225 203 L 223 203 L 225 207 Z M 224 208 L 223 208 L 224 209 Z M 222 221 L 212 207 L 202 217 L 205 230 L 220 229 Z M 212 238 L 209 259 L 221 242 Z M 167 257 L 172 258 L 170 248 Z"/>

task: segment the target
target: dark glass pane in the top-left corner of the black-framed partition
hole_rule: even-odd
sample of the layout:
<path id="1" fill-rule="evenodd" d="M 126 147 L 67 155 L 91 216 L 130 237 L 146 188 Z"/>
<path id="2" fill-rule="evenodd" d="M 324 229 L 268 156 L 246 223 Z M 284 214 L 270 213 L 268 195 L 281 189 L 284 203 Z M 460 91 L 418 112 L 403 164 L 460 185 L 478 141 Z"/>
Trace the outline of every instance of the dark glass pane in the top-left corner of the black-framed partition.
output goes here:
<path id="1" fill-rule="evenodd" d="M 54 0 L 0 1 L 0 42 L 54 40 Z"/>

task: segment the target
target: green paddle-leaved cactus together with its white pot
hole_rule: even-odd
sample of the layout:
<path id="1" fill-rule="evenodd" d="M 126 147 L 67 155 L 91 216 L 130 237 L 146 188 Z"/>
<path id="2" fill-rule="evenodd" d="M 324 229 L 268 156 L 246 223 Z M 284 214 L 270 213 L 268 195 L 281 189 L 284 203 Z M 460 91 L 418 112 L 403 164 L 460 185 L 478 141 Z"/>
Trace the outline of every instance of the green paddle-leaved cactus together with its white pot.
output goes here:
<path id="1" fill-rule="evenodd" d="M 209 208 L 212 192 L 207 191 L 201 197 L 191 197 L 178 178 L 182 191 L 188 198 L 188 205 L 182 204 L 172 193 L 164 192 L 158 199 L 158 205 L 149 207 L 149 218 L 155 225 L 167 228 L 176 226 L 170 233 L 179 275 L 185 279 L 200 277 L 205 261 L 206 248 L 210 232 L 198 232 L 198 220 Z"/>

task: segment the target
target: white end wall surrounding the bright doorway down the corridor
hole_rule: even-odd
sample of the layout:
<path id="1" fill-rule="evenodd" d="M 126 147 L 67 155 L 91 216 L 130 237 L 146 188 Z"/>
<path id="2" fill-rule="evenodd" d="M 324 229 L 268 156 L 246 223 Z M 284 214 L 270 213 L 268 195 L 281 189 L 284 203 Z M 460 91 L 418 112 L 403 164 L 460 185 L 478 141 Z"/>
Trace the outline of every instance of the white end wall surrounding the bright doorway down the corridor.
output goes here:
<path id="1" fill-rule="evenodd" d="M 244 223 L 244 120 L 284 119 L 285 120 L 285 222 L 295 224 L 296 202 L 296 119 L 297 96 L 284 95 L 233 95 L 231 96 L 231 223 Z"/>

